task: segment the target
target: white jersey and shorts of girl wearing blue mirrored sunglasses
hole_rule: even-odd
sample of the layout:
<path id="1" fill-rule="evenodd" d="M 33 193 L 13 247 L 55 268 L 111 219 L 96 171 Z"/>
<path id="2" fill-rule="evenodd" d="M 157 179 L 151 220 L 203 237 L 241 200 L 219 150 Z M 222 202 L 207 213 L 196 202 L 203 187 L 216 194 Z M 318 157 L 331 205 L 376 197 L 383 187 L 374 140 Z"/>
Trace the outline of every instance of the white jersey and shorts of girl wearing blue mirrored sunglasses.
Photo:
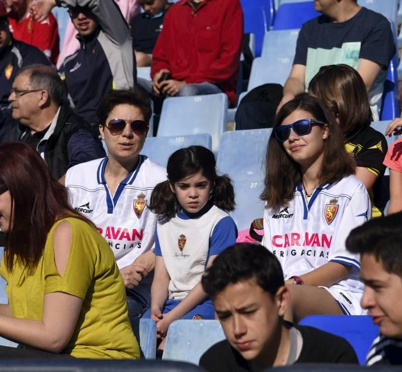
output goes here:
<path id="1" fill-rule="evenodd" d="M 285 280 L 327 262 L 352 266 L 331 289 L 361 294 L 360 256 L 346 250 L 350 231 L 371 218 L 370 198 L 355 176 L 321 185 L 309 203 L 301 185 L 287 206 L 264 212 L 263 244 L 279 259 Z"/>

